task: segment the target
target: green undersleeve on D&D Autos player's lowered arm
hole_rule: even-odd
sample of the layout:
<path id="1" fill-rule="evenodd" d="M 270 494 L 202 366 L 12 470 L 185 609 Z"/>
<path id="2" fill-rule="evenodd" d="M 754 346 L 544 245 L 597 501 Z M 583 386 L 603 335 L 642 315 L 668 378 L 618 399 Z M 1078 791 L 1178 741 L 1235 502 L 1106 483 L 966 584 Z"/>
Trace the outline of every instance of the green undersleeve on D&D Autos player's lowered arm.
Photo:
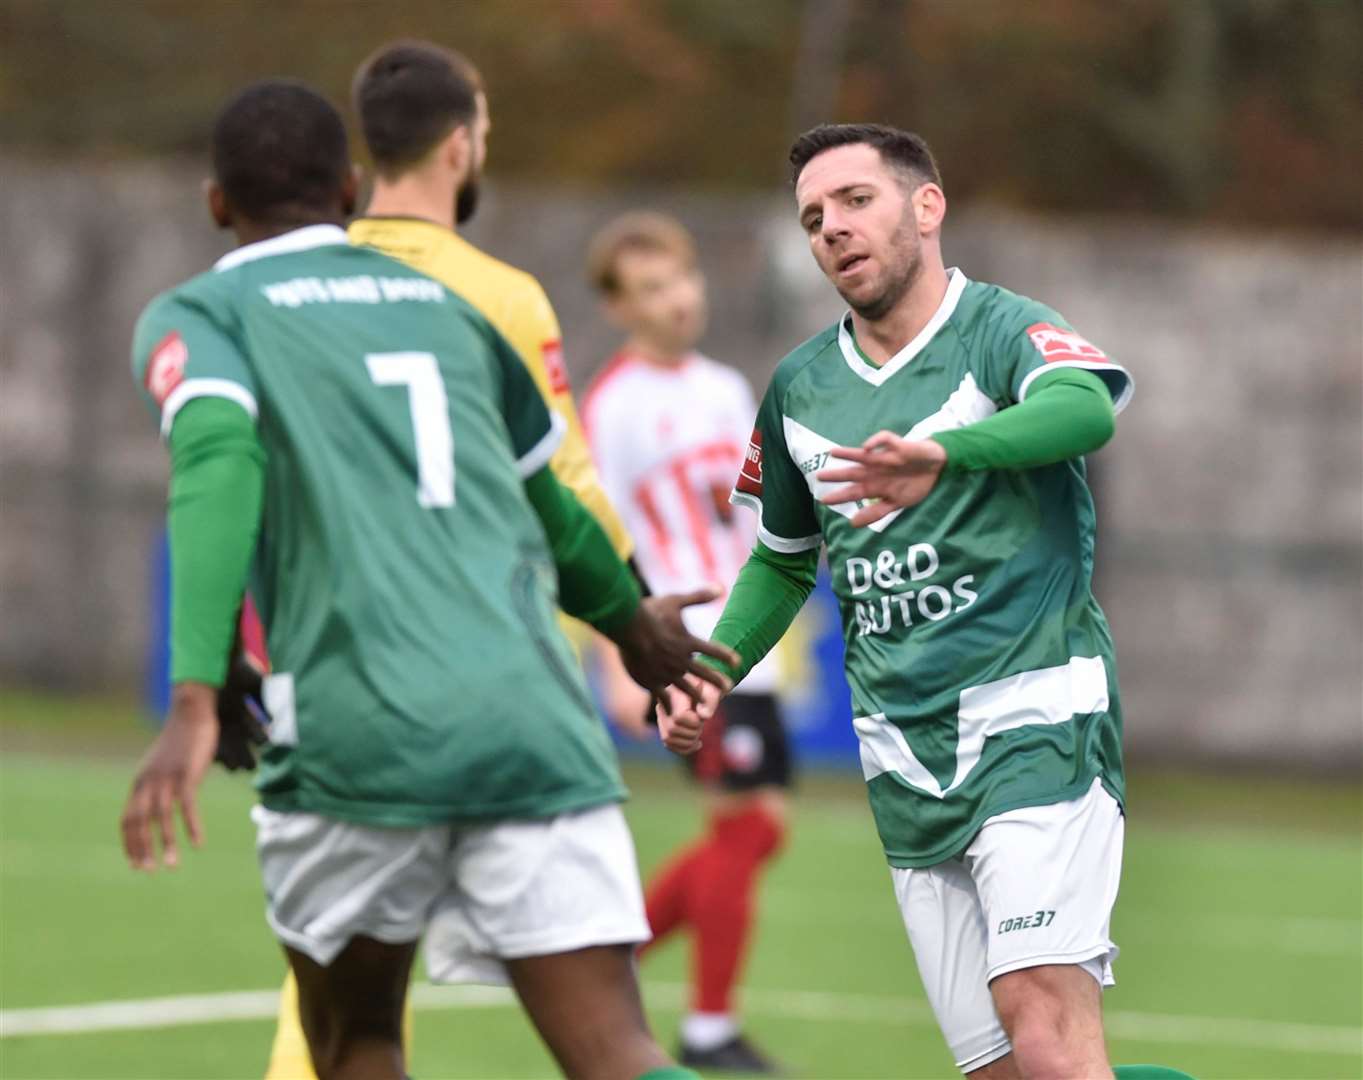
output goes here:
<path id="1" fill-rule="evenodd" d="M 761 540 L 739 571 L 714 633 L 710 635 L 739 655 L 739 667 L 702 656 L 735 685 L 781 640 L 814 590 L 819 551 L 773 551 Z"/>

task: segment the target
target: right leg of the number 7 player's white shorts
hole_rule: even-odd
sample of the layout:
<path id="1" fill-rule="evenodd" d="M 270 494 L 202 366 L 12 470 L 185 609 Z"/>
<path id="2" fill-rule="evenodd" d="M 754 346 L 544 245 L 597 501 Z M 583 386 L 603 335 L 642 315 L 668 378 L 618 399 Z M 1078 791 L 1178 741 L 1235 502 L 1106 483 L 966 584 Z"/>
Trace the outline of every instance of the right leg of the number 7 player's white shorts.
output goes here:
<path id="1" fill-rule="evenodd" d="M 465 829 L 427 937 L 435 982 L 508 982 L 506 963 L 647 941 L 643 889 L 616 803 Z"/>

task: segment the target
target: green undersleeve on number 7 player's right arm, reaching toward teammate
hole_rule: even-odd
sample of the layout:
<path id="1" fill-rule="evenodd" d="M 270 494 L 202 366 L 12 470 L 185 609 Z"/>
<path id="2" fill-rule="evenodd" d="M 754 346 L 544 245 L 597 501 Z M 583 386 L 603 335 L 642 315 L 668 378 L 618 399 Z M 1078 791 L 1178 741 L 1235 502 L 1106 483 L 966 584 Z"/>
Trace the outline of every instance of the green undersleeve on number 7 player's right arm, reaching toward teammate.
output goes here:
<path id="1" fill-rule="evenodd" d="M 616 555 L 596 517 L 541 466 L 525 481 L 525 494 L 549 537 L 559 569 L 559 605 L 616 638 L 639 610 L 639 584 Z"/>

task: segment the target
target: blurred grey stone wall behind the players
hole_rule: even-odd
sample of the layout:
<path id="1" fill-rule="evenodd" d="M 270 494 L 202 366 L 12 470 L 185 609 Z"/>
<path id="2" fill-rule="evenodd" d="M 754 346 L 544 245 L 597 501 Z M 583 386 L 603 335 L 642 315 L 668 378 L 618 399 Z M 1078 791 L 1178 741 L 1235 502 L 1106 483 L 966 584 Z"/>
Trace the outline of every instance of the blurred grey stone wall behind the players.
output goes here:
<path id="1" fill-rule="evenodd" d="M 127 345 L 146 300 L 226 239 L 188 166 L 11 160 L 0 192 L 0 680 L 131 686 L 166 469 Z M 638 205 L 695 229 L 706 349 L 759 390 L 836 316 L 785 195 L 493 190 L 470 236 L 544 281 L 579 389 L 612 346 L 581 252 Z M 946 248 L 1135 372 L 1093 461 L 1133 749 L 1356 769 L 1363 245 L 964 209 Z"/>

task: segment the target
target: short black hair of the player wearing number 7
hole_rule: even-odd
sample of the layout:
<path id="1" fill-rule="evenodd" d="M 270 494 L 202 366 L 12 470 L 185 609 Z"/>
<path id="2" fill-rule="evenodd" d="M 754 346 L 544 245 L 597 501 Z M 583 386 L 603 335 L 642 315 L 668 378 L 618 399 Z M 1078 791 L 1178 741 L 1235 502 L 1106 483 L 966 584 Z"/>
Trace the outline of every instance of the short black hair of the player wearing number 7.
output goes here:
<path id="1" fill-rule="evenodd" d="M 334 211 L 349 172 L 341 113 L 305 83 L 251 83 L 213 125 L 213 173 L 233 209 L 255 221 Z"/>

